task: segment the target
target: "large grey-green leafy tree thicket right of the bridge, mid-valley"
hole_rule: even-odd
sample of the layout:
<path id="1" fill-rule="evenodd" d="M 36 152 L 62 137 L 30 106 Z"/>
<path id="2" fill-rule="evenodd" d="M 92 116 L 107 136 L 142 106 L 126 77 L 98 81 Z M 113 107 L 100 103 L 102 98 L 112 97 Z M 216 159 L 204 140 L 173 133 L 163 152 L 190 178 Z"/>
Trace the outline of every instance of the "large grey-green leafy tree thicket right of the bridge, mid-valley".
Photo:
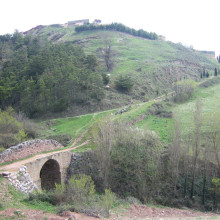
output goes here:
<path id="1" fill-rule="evenodd" d="M 110 187 L 120 195 L 129 194 L 142 201 L 152 198 L 159 178 L 157 136 L 107 120 L 94 129 L 94 140 L 103 188 Z"/>

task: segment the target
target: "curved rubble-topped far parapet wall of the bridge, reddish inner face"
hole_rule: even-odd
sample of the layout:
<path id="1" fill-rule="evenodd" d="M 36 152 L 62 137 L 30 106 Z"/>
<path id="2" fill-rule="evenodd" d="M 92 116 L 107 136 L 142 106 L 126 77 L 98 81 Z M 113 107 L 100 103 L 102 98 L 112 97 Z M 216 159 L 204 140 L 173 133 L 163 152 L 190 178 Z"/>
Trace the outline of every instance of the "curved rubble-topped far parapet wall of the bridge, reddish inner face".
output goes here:
<path id="1" fill-rule="evenodd" d="M 30 140 L 10 147 L 0 154 L 0 163 L 27 157 L 43 151 L 55 150 L 63 146 L 55 140 Z"/>

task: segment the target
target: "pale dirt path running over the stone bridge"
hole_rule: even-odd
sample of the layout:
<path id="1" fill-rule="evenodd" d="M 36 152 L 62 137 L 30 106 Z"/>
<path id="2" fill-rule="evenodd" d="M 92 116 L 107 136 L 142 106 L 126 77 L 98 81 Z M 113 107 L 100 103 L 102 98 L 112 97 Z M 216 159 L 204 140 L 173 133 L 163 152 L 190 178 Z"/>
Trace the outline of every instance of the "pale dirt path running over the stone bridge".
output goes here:
<path id="1" fill-rule="evenodd" d="M 65 148 L 63 150 L 53 151 L 53 152 L 44 153 L 44 154 L 37 154 L 37 155 L 35 155 L 35 156 L 31 157 L 31 158 L 28 158 L 28 159 L 25 159 L 25 160 L 20 160 L 20 161 L 14 162 L 12 164 L 1 166 L 0 167 L 0 172 L 1 171 L 7 171 L 7 172 L 17 171 L 18 168 L 20 168 L 22 165 L 25 165 L 25 164 L 33 162 L 33 161 L 35 161 L 37 159 L 41 159 L 41 158 L 44 158 L 44 157 L 47 157 L 47 156 L 51 156 L 51 155 L 54 155 L 54 154 L 57 154 L 57 153 L 60 153 L 60 152 L 66 152 L 66 151 L 75 150 L 75 149 L 77 149 L 77 148 L 79 148 L 81 146 L 86 145 L 89 142 L 89 140 L 87 140 L 87 141 L 83 142 L 82 144 L 80 144 L 78 146 L 75 146 L 78 141 L 79 141 L 79 139 L 76 139 L 74 141 L 74 143 L 71 145 L 71 147 Z"/>

